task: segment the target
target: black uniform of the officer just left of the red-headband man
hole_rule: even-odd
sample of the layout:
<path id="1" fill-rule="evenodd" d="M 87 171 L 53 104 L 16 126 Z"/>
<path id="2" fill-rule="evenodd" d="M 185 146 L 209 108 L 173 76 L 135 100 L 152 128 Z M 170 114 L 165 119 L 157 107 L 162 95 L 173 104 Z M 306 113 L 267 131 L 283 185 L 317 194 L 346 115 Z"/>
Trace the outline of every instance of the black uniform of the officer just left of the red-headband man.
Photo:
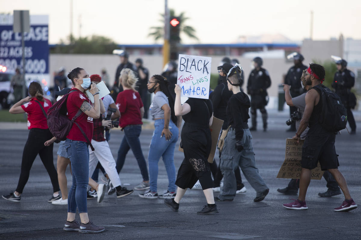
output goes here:
<path id="1" fill-rule="evenodd" d="M 305 90 L 301 86 L 301 76 L 303 70 L 307 69 L 307 67 L 303 64 L 292 66 L 287 74 L 286 78 L 284 79 L 284 83 L 291 86 L 290 93 L 291 97 L 297 97 L 300 96 L 302 93 L 305 92 Z M 290 116 L 292 113 L 297 111 L 297 108 L 295 106 L 290 106 Z M 291 124 L 292 131 L 296 131 L 296 122 Z"/>

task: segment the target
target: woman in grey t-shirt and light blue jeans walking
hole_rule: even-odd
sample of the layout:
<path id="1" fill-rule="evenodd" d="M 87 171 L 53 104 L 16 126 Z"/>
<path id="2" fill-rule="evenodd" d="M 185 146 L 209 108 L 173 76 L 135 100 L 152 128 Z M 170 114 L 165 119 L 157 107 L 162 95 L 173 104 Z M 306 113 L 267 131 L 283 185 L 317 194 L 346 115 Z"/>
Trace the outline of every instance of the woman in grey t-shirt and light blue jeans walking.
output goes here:
<path id="1" fill-rule="evenodd" d="M 169 185 L 160 198 L 175 196 L 174 149 L 178 141 L 178 123 L 174 114 L 174 98 L 168 90 L 169 82 L 161 75 L 153 75 L 147 84 L 148 91 L 155 93 L 149 113 L 154 120 L 155 130 L 148 153 L 150 188 L 139 194 L 143 198 L 158 198 L 158 162 L 162 157 L 167 171 Z"/>

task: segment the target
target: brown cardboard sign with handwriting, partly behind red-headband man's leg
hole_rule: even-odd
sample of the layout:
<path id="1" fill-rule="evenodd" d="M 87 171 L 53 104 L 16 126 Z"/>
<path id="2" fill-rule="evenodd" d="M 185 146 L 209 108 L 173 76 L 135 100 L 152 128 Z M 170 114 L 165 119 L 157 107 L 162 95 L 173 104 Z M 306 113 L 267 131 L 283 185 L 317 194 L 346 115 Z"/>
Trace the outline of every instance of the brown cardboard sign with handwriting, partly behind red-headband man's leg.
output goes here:
<path id="1" fill-rule="evenodd" d="M 300 143 L 297 143 L 296 139 L 286 139 L 286 157 L 281 168 L 279 169 L 277 178 L 300 179 L 302 146 L 304 141 L 304 139 L 301 139 Z M 321 170 L 321 166 L 318 162 L 317 167 L 311 170 L 311 179 L 320 180 L 324 172 L 325 171 Z"/>

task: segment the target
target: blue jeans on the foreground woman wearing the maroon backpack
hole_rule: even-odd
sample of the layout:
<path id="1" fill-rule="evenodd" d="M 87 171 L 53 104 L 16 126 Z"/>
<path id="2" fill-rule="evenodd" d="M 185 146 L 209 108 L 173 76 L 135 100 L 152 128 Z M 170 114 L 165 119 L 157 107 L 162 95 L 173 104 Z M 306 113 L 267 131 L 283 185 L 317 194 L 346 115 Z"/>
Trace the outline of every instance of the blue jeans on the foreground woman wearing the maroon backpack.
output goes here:
<path id="1" fill-rule="evenodd" d="M 68 195 L 68 213 L 87 213 L 87 187 L 89 182 L 89 150 L 83 141 L 65 140 L 66 154 L 71 163 L 73 184 Z"/>

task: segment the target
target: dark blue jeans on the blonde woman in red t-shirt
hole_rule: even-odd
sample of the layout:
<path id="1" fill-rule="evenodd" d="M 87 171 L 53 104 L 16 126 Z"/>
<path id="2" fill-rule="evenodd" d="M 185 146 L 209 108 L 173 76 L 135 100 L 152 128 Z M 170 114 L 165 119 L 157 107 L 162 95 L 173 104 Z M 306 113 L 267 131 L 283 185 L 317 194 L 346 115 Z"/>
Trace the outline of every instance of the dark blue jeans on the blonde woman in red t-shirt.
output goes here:
<path id="1" fill-rule="evenodd" d="M 125 162 L 125 157 L 127 156 L 129 149 L 132 149 L 136 161 L 138 162 L 140 173 L 143 176 L 143 181 L 149 181 L 147 162 L 145 162 L 145 158 L 139 141 L 139 136 L 142 132 L 142 125 L 128 125 L 123 129 L 124 137 L 118 150 L 117 172 L 120 173 L 120 171 L 122 170 Z"/>

